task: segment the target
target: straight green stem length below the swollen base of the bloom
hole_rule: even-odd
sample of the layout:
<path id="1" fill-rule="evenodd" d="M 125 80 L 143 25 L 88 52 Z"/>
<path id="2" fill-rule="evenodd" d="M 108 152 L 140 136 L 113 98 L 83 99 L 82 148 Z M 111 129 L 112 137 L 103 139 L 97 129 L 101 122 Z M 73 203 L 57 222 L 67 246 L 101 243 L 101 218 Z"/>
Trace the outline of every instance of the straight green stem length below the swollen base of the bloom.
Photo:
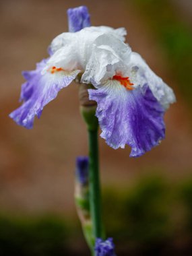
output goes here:
<path id="1" fill-rule="evenodd" d="M 88 129 L 89 136 L 89 186 L 90 211 L 94 238 L 102 237 L 102 220 L 100 206 L 100 177 L 98 166 L 98 128 Z"/>

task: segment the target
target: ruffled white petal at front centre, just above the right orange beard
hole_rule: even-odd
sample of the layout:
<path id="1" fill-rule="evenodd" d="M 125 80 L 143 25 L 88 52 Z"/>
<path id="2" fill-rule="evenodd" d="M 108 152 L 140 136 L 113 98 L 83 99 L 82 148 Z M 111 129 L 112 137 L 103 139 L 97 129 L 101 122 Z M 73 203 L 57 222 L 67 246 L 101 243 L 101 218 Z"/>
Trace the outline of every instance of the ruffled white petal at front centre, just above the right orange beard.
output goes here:
<path id="1" fill-rule="evenodd" d="M 82 75 L 82 82 L 100 84 L 102 80 L 113 77 L 118 71 L 125 73 L 130 55 L 131 48 L 113 34 L 98 36 L 94 41 L 86 71 Z"/>

